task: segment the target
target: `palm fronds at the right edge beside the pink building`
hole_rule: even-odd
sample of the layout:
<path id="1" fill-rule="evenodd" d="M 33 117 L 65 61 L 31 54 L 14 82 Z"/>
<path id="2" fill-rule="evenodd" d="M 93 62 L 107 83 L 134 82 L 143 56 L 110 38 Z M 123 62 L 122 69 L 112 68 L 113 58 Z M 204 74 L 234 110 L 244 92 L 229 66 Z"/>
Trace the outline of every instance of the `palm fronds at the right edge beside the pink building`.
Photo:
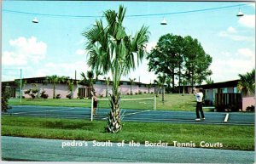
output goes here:
<path id="1" fill-rule="evenodd" d="M 247 72 L 245 75 L 240 76 L 240 82 L 238 82 L 237 88 L 245 96 L 255 93 L 255 69 L 251 72 Z"/>

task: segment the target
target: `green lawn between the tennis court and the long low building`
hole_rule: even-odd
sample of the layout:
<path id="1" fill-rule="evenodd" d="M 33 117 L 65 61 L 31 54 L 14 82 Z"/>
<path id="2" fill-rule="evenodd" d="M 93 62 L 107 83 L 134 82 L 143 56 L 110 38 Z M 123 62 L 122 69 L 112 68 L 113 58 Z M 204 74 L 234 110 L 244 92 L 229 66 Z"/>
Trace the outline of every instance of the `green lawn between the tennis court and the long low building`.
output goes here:
<path id="1" fill-rule="evenodd" d="M 123 95 L 123 99 L 153 98 L 154 94 Z M 100 108 L 109 108 L 108 101 L 99 101 Z M 90 99 L 9 99 L 9 105 L 47 105 L 47 106 L 77 106 L 90 107 Z M 154 100 L 121 101 L 121 108 L 125 109 L 153 109 Z M 156 99 L 157 110 L 195 110 L 193 94 L 166 94 L 166 101 L 162 103 L 161 95 Z M 207 111 L 207 110 L 205 110 Z"/>

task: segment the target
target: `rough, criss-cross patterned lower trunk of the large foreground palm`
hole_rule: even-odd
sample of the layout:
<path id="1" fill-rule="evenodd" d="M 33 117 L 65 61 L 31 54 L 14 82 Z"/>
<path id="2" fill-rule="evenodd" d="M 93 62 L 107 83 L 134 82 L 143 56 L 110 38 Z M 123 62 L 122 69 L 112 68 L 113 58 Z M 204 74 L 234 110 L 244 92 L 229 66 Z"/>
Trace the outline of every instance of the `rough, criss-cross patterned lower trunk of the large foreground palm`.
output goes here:
<path id="1" fill-rule="evenodd" d="M 120 95 L 111 95 L 110 97 L 111 110 L 108 114 L 108 126 L 106 131 L 108 133 L 118 133 L 122 129 L 121 117 L 120 117 Z"/>

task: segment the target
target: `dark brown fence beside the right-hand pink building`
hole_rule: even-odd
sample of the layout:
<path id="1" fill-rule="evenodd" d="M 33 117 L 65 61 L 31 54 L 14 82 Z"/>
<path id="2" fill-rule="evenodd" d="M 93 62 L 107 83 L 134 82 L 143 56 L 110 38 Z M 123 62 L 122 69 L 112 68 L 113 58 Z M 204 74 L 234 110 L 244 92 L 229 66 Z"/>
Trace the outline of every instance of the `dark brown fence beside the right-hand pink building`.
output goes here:
<path id="1" fill-rule="evenodd" d="M 215 108 L 217 111 L 238 111 L 241 109 L 241 93 L 216 93 Z"/>

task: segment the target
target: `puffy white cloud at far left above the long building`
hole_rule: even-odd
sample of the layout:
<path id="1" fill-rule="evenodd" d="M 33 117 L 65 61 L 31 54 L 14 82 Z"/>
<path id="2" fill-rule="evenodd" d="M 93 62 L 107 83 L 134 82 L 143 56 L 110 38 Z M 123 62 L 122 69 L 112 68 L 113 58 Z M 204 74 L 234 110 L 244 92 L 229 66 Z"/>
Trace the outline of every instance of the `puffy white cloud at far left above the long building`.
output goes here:
<path id="1" fill-rule="evenodd" d="M 36 37 L 19 37 L 10 40 L 10 51 L 3 52 L 3 65 L 27 65 L 29 62 L 38 62 L 44 59 L 47 44 L 38 42 Z"/>

